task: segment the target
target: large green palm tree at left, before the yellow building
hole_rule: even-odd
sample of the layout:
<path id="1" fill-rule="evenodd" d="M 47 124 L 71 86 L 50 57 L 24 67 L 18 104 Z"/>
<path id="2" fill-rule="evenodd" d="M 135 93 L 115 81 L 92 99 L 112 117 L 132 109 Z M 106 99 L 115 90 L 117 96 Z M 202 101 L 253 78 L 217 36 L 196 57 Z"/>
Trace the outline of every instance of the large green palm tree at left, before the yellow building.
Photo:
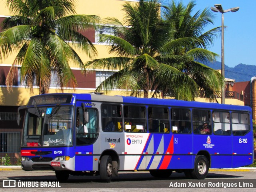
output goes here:
<path id="1" fill-rule="evenodd" d="M 18 66 L 21 80 L 26 80 L 31 92 L 34 81 L 40 94 L 49 91 L 51 70 L 57 74 L 62 92 L 68 84 L 75 88 L 77 82 L 69 63 L 81 68 L 84 65 L 74 48 L 88 56 L 97 54 L 90 40 L 80 32 L 96 28 L 98 16 L 76 14 L 74 0 L 7 0 L 6 3 L 14 16 L 2 23 L 0 61 L 18 51 L 6 78 L 8 90 L 12 89 Z"/>

